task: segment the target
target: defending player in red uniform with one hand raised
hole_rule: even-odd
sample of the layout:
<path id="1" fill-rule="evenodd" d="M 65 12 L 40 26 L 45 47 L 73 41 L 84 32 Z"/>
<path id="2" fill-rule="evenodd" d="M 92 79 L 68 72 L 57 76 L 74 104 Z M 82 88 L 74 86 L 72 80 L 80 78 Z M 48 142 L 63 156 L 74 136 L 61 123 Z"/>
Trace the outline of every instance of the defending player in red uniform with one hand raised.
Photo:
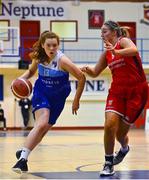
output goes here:
<path id="1" fill-rule="evenodd" d="M 82 71 L 97 77 L 107 66 L 112 73 L 105 108 L 104 148 L 105 164 L 101 176 L 114 174 L 114 165 L 129 152 L 128 131 L 143 110 L 148 96 L 148 85 L 135 44 L 123 36 L 116 22 L 106 21 L 101 28 L 105 51 L 95 67 L 82 67 Z M 114 156 L 115 139 L 121 144 Z"/>

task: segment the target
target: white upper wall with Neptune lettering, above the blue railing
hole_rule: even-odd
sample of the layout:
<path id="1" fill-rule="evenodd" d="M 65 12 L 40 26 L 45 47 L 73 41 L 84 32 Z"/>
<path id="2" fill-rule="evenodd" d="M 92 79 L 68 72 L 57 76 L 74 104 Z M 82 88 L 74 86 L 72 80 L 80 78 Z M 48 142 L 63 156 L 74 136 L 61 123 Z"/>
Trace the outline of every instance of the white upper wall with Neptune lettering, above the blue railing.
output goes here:
<path id="1" fill-rule="evenodd" d="M 9 19 L 10 26 L 14 27 L 19 27 L 20 20 L 39 20 L 41 32 L 49 29 L 51 20 L 77 20 L 79 37 L 98 37 L 100 36 L 100 30 L 89 29 L 88 27 L 88 10 L 104 10 L 105 20 L 134 21 L 137 24 L 137 37 L 149 37 L 148 22 L 144 21 L 144 5 L 149 6 L 149 2 L 81 2 L 78 6 L 75 6 L 72 1 L 41 2 L 5 0 L 3 1 L 3 11 L 0 19 Z M 26 9 L 27 7 L 28 9 Z M 37 10 L 33 11 L 33 8 L 44 8 L 44 15 L 39 15 Z M 48 17 L 46 16 L 46 8 L 53 9 Z M 59 8 L 62 9 L 61 13 L 57 12 Z"/>

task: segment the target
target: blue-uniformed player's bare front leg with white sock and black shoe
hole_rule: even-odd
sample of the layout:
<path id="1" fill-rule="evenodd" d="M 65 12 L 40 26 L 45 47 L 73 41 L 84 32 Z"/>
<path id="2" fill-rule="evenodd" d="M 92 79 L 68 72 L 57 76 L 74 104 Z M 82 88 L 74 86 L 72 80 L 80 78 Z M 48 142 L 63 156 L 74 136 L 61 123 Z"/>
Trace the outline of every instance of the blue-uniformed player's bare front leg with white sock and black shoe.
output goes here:
<path id="1" fill-rule="evenodd" d="M 49 113 L 49 109 L 47 108 L 42 108 L 35 112 L 35 126 L 27 136 L 24 147 L 19 153 L 19 160 L 12 168 L 13 171 L 18 173 L 28 171 L 27 159 L 30 152 L 42 140 L 43 136 L 47 133 L 49 128 L 52 127 L 52 125 L 48 123 L 50 115 Z"/>

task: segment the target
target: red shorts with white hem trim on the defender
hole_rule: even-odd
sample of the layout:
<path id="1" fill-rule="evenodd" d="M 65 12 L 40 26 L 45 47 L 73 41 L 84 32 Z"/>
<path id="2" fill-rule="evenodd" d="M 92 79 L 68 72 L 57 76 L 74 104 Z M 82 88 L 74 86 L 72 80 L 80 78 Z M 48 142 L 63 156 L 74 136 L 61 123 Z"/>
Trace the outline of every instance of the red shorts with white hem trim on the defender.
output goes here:
<path id="1" fill-rule="evenodd" d="M 147 82 L 133 87 L 111 87 L 105 111 L 115 112 L 121 115 L 126 123 L 133 124 L 144 109 L 147 98 Z"/>

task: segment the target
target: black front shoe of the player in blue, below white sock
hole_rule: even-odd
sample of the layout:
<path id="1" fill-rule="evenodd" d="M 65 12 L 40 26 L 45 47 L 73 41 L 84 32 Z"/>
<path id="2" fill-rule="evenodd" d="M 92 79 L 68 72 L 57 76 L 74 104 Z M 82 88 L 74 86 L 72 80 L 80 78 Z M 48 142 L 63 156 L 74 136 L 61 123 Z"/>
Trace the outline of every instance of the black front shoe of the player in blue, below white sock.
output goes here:
<path id="1" fill-rule="evenodd" d="M 20 159 L 13 167 L 12 170 L 16 173 L 26 173 L 28 171 L 28 166 L 27 166 L 27 160 L 22 158 Z"/>

